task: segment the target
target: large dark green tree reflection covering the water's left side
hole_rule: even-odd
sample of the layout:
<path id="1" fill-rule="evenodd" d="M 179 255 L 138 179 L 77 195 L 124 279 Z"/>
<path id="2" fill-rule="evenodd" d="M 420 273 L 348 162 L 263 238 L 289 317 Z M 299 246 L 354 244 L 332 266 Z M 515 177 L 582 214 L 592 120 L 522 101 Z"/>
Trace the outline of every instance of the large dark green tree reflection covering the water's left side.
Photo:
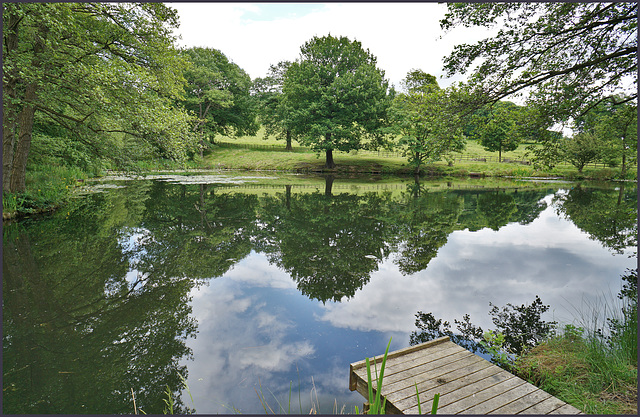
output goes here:
<path id="1" fill-rule="evenodd" d="M 197 283 L 161 271 L 127 279 L 134 252 L 122 230 L 139 221 L 145 192 L 95 195 L 4 228 L 5 413 L 132 413 L 131 389 L 161 413 L 167 385 L 184 412 L 178 363 L 191 353 Z"/>

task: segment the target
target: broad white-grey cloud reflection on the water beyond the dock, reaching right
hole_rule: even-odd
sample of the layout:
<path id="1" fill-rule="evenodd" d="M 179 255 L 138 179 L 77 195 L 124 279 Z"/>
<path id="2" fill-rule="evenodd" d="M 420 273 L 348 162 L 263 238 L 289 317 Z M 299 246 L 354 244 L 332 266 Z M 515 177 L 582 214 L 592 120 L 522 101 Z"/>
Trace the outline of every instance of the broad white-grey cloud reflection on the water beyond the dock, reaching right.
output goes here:
<path id="1" fill-rule="evenodd" d="M 618 291 L 610 285 L 619 282 L 619 266 L 600 243 L 585 239 L 554 210 L 548 207 L 534 226 L 453 232 L 428 268 L 413 275 L 403 276 L 392 260 L 385 261 L 352 299 L 327 304 L 318 319 L 358 331 L 410 333 L 421 310 L 454 329 L 453 320 L 468 313 L 472 323 L 487 329 L 494 328 L 489 302 L 529 305 L 540 295 L 552 306 L 546 320 L 570 322 L 584 300 Z"/>

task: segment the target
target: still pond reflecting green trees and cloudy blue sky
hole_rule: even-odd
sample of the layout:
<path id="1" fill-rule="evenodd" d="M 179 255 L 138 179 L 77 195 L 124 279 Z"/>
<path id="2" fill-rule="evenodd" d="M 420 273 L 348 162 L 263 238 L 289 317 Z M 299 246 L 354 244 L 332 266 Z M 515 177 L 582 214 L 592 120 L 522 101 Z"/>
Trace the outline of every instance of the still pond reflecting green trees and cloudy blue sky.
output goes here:
<path id="1" fill-rule="evenodd" d="M 416 313 L 491 329 L 489 303 L 539 296 L 571 323 L 615 299 L 636 235 L 629 183 L 88 182 L 4 225 L 3 412 L 162 413 L 167 391 L 174 412 L 353 412 L 349 364 L 409 346 Z"/>

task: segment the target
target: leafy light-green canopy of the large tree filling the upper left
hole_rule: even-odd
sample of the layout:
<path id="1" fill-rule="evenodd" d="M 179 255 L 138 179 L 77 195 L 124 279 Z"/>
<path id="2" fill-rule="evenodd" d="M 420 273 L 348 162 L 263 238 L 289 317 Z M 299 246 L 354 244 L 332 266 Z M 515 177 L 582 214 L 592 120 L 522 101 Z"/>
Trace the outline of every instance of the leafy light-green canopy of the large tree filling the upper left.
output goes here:
<path id="1" fill-rule="evenodd" d="M 191 119 L 173 106 L 184 63 L 175 10 L 153 3 L 3 5 L 3 190 L 25 190 L 34 119 L 61 126 L 94 155 L 126 140 L 185 158 Z"/>

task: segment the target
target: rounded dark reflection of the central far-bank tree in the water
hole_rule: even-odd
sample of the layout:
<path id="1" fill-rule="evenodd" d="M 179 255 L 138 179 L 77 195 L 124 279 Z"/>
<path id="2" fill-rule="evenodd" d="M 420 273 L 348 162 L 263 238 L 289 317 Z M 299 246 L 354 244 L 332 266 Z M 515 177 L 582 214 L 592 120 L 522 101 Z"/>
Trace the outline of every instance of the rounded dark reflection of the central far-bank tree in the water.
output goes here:
<path id="1" fill-rule="evenodd" d="M 352 297 L 390 253 L 392 225 L 382 220 L 389 198 L 317 192 L 264 197 L 256 248 L 308 297 Z"/>

